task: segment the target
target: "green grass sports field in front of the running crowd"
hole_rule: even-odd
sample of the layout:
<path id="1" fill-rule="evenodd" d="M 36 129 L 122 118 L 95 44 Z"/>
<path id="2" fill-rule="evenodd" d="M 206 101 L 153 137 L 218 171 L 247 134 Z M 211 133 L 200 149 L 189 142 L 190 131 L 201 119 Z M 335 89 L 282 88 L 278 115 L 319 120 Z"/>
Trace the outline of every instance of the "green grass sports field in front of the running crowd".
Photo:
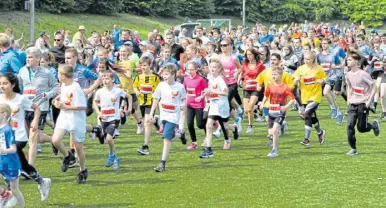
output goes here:
<path id="1" fill-rule="evenodd" d="M 326 143 L 319 145 L 313 131 L 311 148 L 301 146 L 304 121 L 289 112 L 290 129 L 280 140 L 278 158 L 266 157 L 270 148 L 265 146 L 265 123 L 256 122 L 255 134 L 243 133 L 232 141 L 231 150 L 222 150 L 223 141 L 215 141 L 214 158 L 200 159 L 201 149 L 188 152 L 175 141 L 167 171 L 156 173 L 160 136 L 153 134 L 150 155 L 139 155 L 136 149 L 143 136 L 135 134 L 136 126 L 129 121 L 116 140 L 120 171 L 104 167 L 107 145 L 87 139 L 89 178 L 77 185 L 78 168 L 62 173 L 59 156 L 45 144 L 36 167 L 42 176 L 52 178 L 50 198 L 40 202 L 32 181 L 21 181 L 20 187 L 27 207 L 385 207 L 385 123 L 379 137 L 357 133 L 359 155 L 346 156 L 346 123 L 337 126 L 326 103 L 323 100 L 318 111 Z M 203 132 L 198 133 L 201 144 Z"/>

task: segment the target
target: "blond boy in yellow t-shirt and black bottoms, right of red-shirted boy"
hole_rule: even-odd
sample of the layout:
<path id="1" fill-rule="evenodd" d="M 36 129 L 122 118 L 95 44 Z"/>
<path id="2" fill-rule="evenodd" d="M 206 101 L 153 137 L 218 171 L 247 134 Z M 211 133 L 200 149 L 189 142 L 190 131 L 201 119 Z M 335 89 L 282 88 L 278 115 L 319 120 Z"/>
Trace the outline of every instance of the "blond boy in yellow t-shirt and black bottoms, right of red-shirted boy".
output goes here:
<path id="1" fill-rule="evenodd" d="M 322 83 L 327 78 L 323 68 L 315 64 L 315 53 L 304 53 L 304 65 L 300 66 L 293 74 L 294 83 L 300 86 L 301 100 L 304 110 L 304 140 L 300 144 L 310 147 L 312 125 L 319 137 L 319 144 L 324 143 L 325 130 L 320 128 L 316 117 L 316 110 L 322 100 Z"/>

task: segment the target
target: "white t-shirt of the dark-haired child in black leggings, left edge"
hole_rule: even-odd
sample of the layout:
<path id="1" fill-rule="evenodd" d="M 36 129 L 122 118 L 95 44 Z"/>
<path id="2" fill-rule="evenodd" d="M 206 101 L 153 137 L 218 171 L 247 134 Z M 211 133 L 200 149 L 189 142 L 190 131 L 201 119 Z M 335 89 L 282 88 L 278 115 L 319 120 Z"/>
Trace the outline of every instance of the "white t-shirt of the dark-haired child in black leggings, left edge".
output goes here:
<path id="1" fill-rule="evenodd" d="M 25 111 L 33 105 L 32 100 L 24 95 L 16 94 L 12 100 L 5 100 L 3 95 L 0 95 L 0 103 L 8 104 L 11 107 L 11 124 L 15 131 L 15 139 L 19 142 L 28 141 L 27 130 L 25 129 Z"/>

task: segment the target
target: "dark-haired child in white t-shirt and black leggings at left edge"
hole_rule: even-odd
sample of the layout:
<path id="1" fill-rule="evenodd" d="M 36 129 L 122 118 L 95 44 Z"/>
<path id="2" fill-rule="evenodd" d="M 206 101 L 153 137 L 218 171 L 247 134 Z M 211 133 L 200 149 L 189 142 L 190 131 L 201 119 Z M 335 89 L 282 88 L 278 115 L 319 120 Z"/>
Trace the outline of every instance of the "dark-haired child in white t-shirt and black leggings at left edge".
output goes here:
<path id="1" fill-rule="evenodd" d="M 20 159 L 21 168 L 25 177 L 33 179 L 38 185 L 41 200 L 48 199 L 51 187 L 51 179 L 42 178 L 37 170 L 28 163 L 23 148 L 27 145 L 28 134 L 25 128 L 25 111 L 32 109 L 34 119 L 31 122 L 31 132 L 37 132 L 40 109 L 36 104 L 23 95 L 20 95 L 19 79 L 12 73 L 0 75 L 0 103 L 8 104 L 11 107 L 11 125 L 15 131 L 16 150 Z M 33 135 L 30 135 L 31 137 Z"/>

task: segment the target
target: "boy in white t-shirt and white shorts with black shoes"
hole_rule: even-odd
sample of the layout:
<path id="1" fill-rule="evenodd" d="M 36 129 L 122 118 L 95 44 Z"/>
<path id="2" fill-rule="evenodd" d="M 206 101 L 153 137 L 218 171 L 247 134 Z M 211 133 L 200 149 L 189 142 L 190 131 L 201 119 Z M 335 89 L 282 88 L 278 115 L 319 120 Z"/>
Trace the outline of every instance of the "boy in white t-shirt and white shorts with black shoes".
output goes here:
<path id="1" fill-rule="evenodd" d="M 85 183 L 88 171 L 85 167 L 85 154 L 82 143 L 86 134 L 87 101 L 82 88 L 73 79 L 74 68 L 70 65 L 60 65 L 58 72 L 58 78 L 62 86 L 60 95 L 52 101 L 52 104 L 60 109 L 60 114 L 52 136 L 52 143 L 64 156 L 62 172 L 66 172 L 70 161 L 75 160 L 75 156 L 71 152 L 67 152 L 63 137 L 66 132 L 72 135 L 80 166 L 76 182 Z"/>

